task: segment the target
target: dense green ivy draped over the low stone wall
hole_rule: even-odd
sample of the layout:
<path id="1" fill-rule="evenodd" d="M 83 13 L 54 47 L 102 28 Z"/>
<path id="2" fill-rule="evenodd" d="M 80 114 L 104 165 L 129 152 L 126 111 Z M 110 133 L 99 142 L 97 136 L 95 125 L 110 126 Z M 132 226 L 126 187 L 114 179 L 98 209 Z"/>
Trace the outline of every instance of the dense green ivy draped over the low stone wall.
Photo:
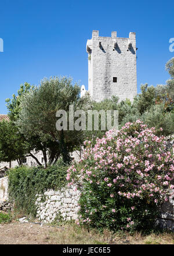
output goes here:
<path id="1" fill-rule="evenodd" d="M 38 194 L 46 190 L 58 190 L 66 186 L 68 166 L 60 159 L 48 168 L 19 166 L 9 171 L 9 197 L 17 210 L 35 216 L 37 208 L 35 200 Z"/>

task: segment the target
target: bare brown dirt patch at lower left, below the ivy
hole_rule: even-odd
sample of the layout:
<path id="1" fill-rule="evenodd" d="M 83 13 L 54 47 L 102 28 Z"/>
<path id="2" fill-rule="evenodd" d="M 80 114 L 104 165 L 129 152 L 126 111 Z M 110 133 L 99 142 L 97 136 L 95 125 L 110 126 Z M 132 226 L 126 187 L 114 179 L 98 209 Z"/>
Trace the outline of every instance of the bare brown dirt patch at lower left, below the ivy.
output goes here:
<path id="1" fill-rule="evenodd" d="M 60 232 L 61 227 L 33 223 L 11 222 L 0 225 L 0 244 L 50 244 L 50 232 Z"/>

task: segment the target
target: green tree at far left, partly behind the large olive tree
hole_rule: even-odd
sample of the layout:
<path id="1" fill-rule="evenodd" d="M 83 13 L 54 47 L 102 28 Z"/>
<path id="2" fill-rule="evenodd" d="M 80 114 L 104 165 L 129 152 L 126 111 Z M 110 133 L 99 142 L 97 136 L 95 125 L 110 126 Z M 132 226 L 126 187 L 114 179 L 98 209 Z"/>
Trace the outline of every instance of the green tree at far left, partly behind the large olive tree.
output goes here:
<path id="1" fill-rule="evenodd" d="M 28 143 L 23 134 L 19 132 L 19 129 L 15 125 L 15 121 L 19 118 L 19 112 L 21 109 L 20 101 L 21 97 L 32 90 L 33 87 L 30 84 L 25 83 L 20 85 L 20 89 L 17 91 L 17 95 L 13 94 L 12 99 L 6 99 L 6 106 L 8 108 L 8 116 L 10 122 L 0 123 L 0 159 L 1 161 L 16 160 L 21 164 L 21 158 L 26 154 L 29 154 L 34 146 L 31 146 L 31 141 Z"/>

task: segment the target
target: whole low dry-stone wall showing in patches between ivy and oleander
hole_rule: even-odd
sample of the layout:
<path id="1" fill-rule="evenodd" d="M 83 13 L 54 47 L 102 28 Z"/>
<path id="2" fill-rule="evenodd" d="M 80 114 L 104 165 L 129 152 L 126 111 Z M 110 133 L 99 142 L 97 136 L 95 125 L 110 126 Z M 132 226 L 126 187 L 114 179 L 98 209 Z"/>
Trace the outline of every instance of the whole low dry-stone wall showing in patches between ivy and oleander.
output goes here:
<path id="1" fill-rule="evenodd" d="M 174 190 L 171 191 L 174 193 Z M 78 217 L 78 200 L 80 191 L 75 186 L 64 187 L 61 190 L 48 190 L 43 195 L 37 195 L 37 218 L 42 222 L 52 222 L 58 216 L 70 221 Z M 43 199 L 43 200 L 42 200 Z M 8 202 L 8 177 L 0 179 L 0 210 L 10 209 Z M 161 218 L 157 220 L 163 228 L 174 230 L 174 194 L 161 208 Z"/>

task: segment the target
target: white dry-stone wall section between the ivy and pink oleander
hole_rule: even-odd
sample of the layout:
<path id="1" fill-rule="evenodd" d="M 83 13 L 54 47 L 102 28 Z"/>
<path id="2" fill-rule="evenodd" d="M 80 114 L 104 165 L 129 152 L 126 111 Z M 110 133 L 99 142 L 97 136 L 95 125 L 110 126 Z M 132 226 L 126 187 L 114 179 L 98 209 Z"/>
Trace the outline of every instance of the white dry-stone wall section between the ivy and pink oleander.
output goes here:
<path id="1" fill-rule="evenodd" d="M 38 207 L 37 218 L 43 222 L 52 222 L 56 216 L 61 216 L 66 221 L 77 219 L 79 195 L 80 192 L 75 187 L 46 191 L 44 202 L 41 195 L 35 202 Z"/>

